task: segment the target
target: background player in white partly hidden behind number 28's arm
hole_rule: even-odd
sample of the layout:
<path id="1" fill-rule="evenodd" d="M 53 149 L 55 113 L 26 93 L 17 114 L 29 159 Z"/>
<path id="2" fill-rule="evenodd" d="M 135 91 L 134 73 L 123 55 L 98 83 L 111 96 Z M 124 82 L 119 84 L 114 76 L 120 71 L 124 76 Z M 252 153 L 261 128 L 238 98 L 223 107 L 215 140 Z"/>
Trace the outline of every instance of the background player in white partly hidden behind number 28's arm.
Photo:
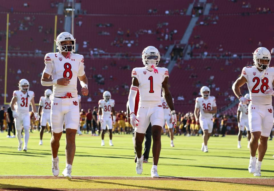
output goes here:
<path id="1" fill-rule="evenodd" d="M 246 94 L 245 98 L 247 98 L 247 100 L 250 100 L 250 95 Z M 248 134 L 247 148 L 249 148 L 249 140 L 251 138 L 251 133 L 250 133 L 249 124 L 248 124 L 248 104 L 249 104 L 249 102 L 246 105 L 239 103 L 238 110 L 237 110 L 237 121 L 238 121 L 238 128 L 239 128 L 238 148 L 242 148 L 241 147 L 241 138 L 242 138 L 244 129 L 246 129 L 246 132 Z"/>

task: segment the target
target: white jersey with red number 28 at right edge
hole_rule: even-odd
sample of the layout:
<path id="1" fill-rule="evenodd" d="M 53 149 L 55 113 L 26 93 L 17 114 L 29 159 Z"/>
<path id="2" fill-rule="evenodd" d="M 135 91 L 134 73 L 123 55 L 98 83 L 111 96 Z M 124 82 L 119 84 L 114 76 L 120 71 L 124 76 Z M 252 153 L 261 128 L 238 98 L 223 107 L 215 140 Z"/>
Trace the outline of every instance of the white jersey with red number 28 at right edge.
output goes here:
<path id="1" fill-rule="evenodd" d="M 264 79 L 262 79 L 262 75 L 264 75 Z M 268 87 L 273 89 L 273 67 L 268 67 L 265 71 L 260 72 L 255 66 L 247 66 L 243 68 L 241 76 L 244 76 L 247 80 L 247 87 L 250 94 L 251 104 L 272 104 L 272 96 L 266 95 L 264 93 Z"/>

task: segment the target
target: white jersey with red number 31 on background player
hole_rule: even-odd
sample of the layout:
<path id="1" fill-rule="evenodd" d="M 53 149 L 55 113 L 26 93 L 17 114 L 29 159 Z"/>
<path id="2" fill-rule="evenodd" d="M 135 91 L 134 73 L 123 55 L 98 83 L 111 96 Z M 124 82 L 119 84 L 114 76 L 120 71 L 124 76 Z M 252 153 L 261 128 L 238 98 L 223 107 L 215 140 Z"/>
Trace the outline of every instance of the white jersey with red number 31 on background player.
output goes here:
<path id="1" fill-rule="evenodd" d="M 29 95 L 29 97 L 27 95 Z M 27 93 L 23 94 L 22 91 L 17 90 L 13 92 L 13 96 L 17 98 L 16 112 L 19 112 L 19 113 L 29 112 L 29 105 L 31 103 L 31 99 L 34 97 L 34 92 L 28 91 L 28 94 Z"/>

